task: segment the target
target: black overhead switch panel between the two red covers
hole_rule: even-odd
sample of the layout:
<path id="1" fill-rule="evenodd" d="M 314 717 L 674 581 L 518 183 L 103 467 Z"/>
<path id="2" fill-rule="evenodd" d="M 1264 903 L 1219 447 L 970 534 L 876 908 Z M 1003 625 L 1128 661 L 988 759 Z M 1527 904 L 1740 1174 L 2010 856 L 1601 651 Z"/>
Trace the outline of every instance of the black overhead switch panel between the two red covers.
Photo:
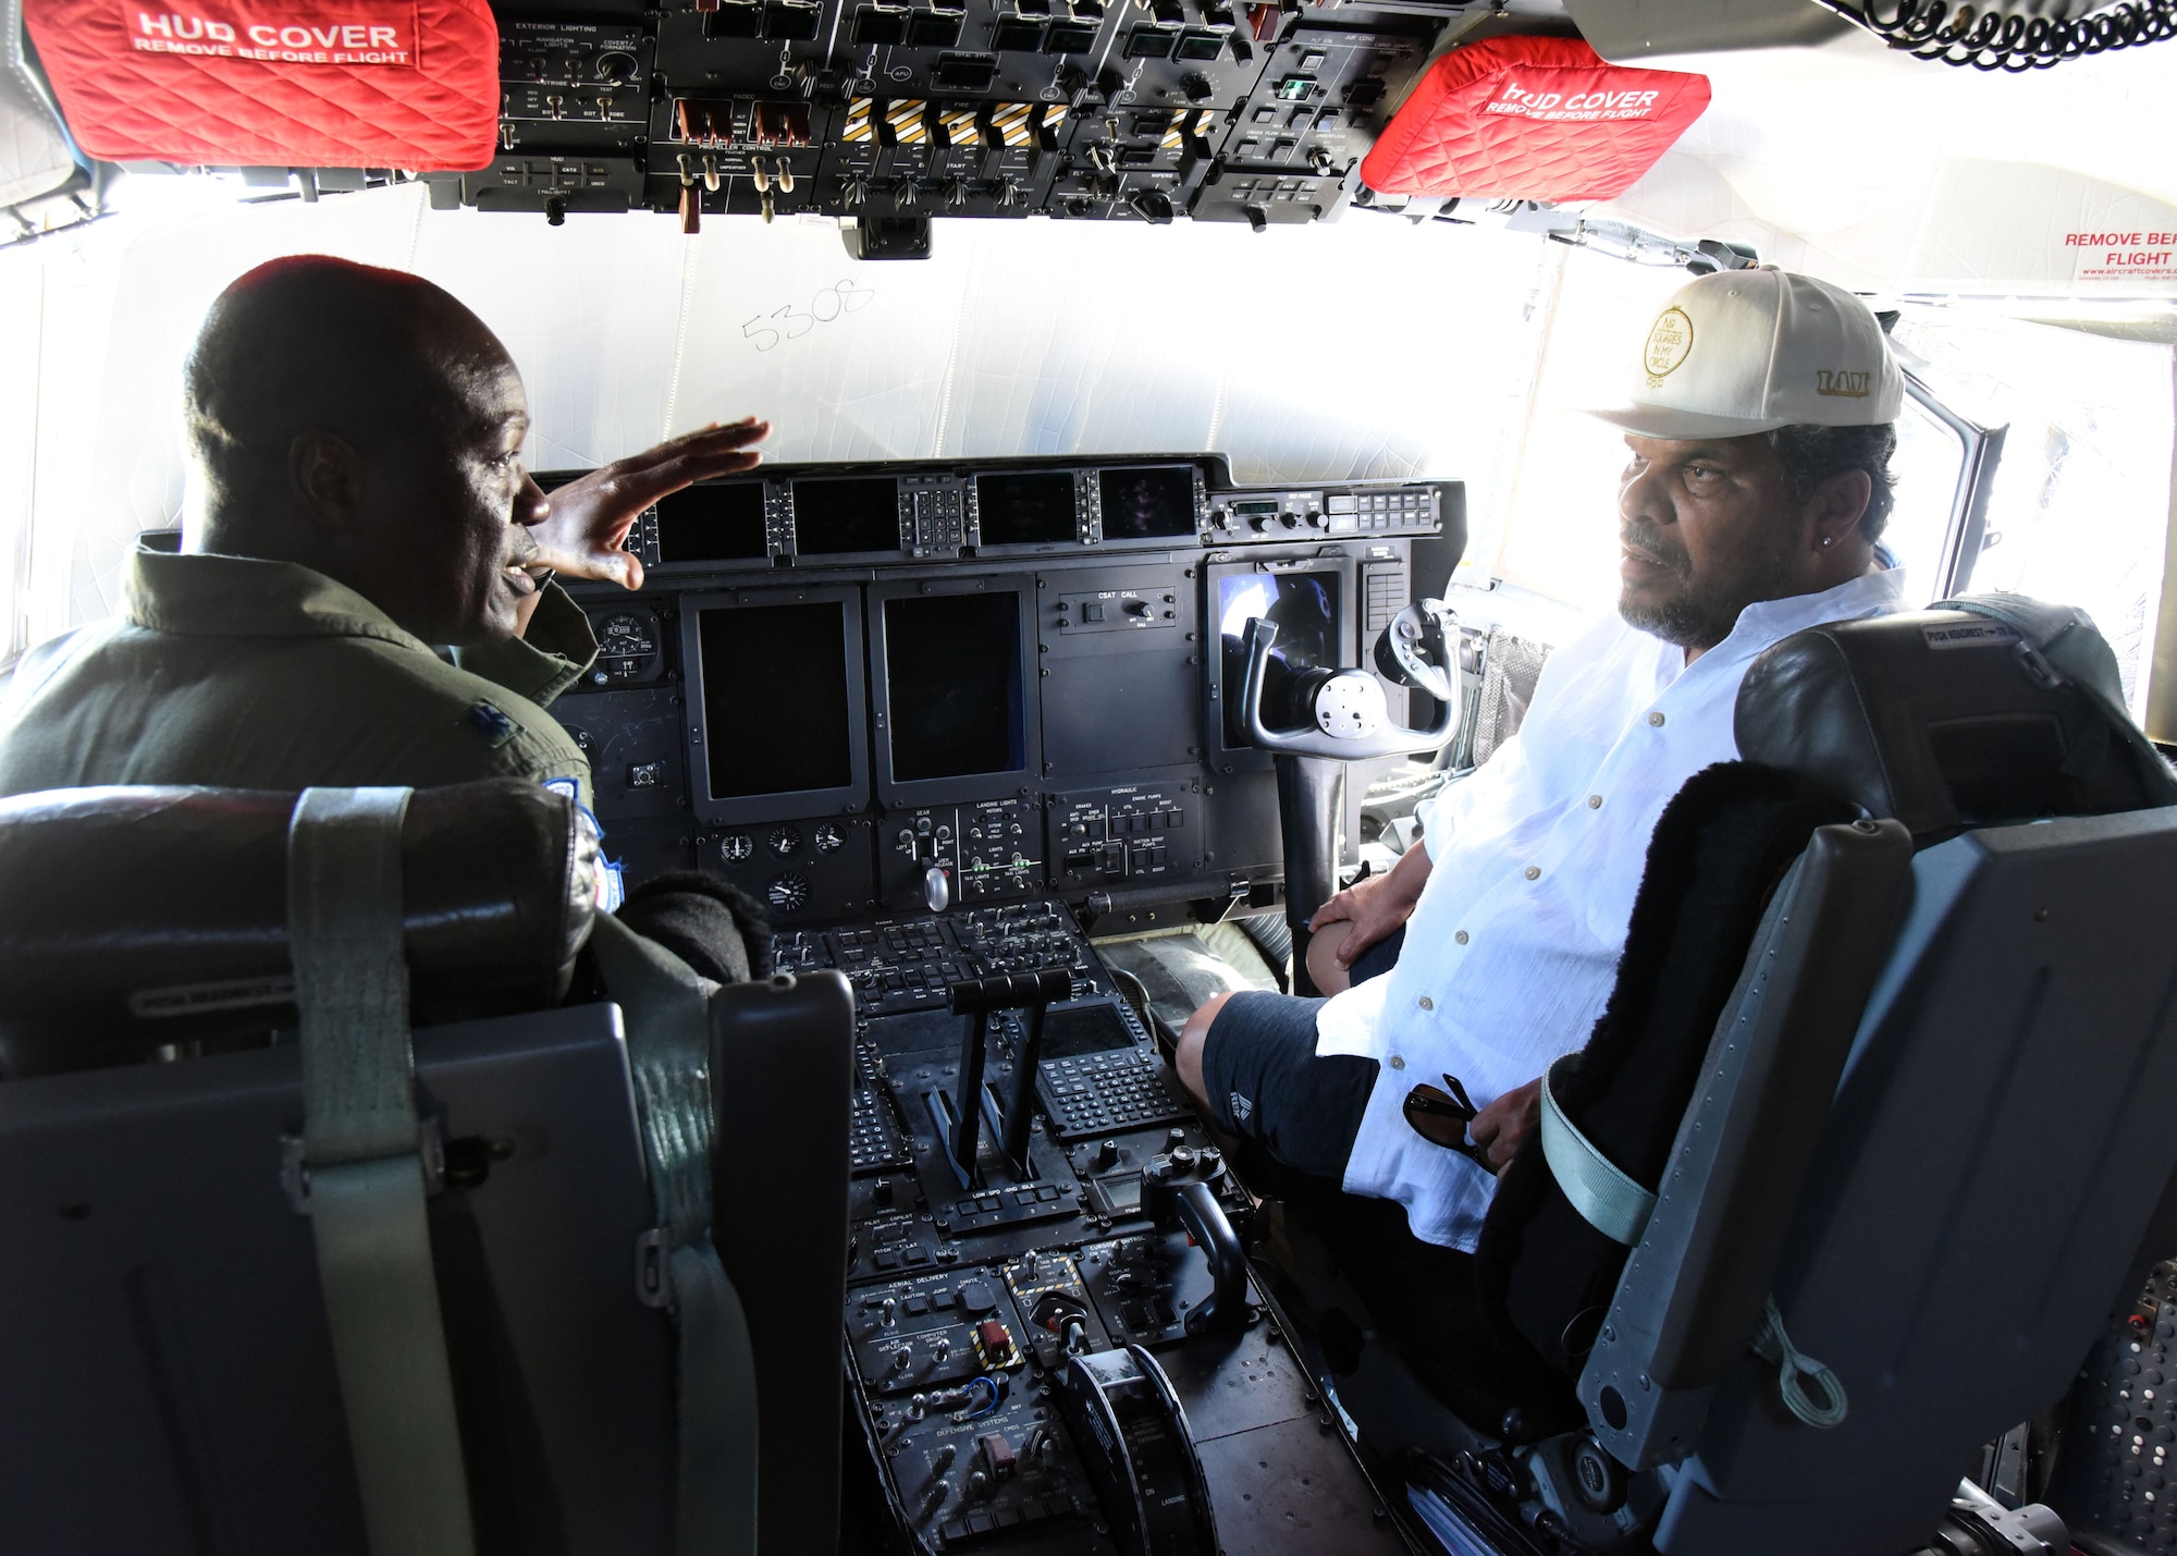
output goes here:
<path id="1" fill-rule="evenodd" d="M 1539 11 L 1537 0 L 1509 0 Z M 501 17 L 492 166 L 435 205 L 1332 220 L 1456 0 L 601 0 Z M 1506 11 L 1498 0 L 1491 17 Z M 1454 22 L 1459 20 L 1459 22 Z M 927 233 L 910 253 L 927 253 Z"/>

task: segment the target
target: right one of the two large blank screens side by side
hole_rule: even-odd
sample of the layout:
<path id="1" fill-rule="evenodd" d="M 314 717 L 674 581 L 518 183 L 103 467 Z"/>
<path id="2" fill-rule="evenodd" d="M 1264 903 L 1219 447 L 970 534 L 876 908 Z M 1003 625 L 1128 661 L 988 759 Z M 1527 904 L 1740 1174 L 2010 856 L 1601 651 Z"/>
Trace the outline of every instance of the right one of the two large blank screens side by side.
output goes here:
<path id="1" fill-rule="evenodd" d="M 893 782 L 1028 767 L 1021 595 L 884 601 Z"/>

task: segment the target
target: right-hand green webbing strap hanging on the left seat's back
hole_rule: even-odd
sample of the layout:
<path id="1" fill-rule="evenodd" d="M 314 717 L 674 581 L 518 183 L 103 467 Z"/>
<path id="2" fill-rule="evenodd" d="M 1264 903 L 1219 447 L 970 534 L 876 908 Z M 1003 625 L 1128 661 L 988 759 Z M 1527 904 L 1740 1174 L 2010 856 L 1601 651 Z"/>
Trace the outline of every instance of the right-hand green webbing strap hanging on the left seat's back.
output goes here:
<path id="1" fill-rule="evenodd" d="M 755 1556 L 755 1347 L 710 1240 L 710 985 L 616 917 L 590 935 L 627 1018 L 657 1223 L 679 1323 L 679 1556 Z"/>

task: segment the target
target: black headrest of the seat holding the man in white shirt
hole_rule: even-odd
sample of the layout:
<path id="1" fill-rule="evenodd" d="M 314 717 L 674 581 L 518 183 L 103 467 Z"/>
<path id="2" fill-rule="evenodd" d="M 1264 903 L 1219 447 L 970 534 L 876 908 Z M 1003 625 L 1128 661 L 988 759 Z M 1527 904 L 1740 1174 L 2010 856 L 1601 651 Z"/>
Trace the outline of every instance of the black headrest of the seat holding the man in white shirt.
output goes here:
<path id="1" fill-rule="evenodd" d="M 1966 608 L 1833 621 L 1770 647 L 1739 684 L 1739 756 L 1807 774 L 1920 846 L 2177 802 L 2083 612 L 2016 595 L 1955 604 Z"/>

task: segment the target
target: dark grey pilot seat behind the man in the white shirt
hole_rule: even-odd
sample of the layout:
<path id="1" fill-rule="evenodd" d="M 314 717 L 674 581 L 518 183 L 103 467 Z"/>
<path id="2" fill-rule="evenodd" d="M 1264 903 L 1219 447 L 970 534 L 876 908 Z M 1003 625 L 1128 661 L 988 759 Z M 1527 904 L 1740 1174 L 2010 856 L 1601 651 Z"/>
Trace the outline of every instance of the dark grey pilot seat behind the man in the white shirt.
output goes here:
<path id="1" fill-rule="evenodd" d="M 1350 1199 L 1287 1203 L 1282 1279 L 1446 1549 L 2064 1556 L 1959 1475 L 2157 1316 L 2177 778 L 2092 623 L 2020 597 L 1800 632 L 1735 717 L 1500 1177 L 1485 1364 L 1417 1386 Z"/>

